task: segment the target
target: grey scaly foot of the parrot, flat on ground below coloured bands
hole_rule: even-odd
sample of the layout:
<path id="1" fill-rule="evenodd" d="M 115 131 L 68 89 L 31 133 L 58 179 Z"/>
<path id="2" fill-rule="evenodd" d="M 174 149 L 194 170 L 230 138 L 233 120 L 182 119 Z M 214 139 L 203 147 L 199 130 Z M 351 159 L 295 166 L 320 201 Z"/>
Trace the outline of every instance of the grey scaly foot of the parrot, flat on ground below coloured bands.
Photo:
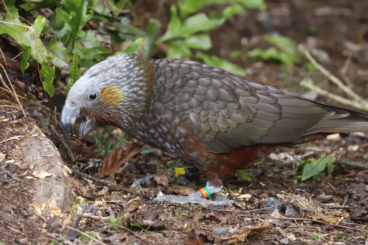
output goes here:
<path id="1" fill-rule="evenodd" d="M 190 194 L 187 197 L 178 197 L 176 195 L 164 195 L 164 196 L 156 197 L 152 200 L 152 202 L 164 202 L 164 201 L 183 204 L 183 205 L 188 204 L 188 203 L 198 203 L 204 206 L 208 206 L 208 205 L 231 206 L 235 203 L 235 201 L 230 200 L 230 199 L 224 199 L 220 201 L 211 201 L 211 200 L 205 199 L 203 198 L 202 192 L 200 191 Z"/>

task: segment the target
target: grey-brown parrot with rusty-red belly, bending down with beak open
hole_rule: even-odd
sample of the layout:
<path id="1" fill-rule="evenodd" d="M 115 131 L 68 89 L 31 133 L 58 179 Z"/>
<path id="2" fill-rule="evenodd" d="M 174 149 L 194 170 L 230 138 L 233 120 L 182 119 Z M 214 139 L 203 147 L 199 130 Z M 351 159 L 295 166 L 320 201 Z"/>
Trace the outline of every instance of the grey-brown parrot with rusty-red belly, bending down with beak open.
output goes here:
<path id="1" fill-rule="evenodd" d="M 188 196 L 162 195 L 152 202 L 229 206 L 210 200 L 223 180 L 278 147 L 321 140 L 333 133 L 368 131 L 368 115 L 321 104 L 240 78 L 233 73 L 174 58 L 147 60 L 123 53 L 93 65 L 71 87 L 61 129 L 75 140 L 111 125 L 144 144 L 194 165 L 206 186 Z"/>

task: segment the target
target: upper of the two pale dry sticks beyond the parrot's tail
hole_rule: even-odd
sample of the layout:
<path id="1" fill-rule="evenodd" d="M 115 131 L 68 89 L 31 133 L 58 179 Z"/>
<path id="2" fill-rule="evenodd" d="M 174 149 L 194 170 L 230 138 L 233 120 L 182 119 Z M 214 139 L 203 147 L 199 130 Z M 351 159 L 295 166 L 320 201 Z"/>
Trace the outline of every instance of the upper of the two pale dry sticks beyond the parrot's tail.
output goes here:
<path id="1" fill-rule="evenodd" d="M 356 101 L 360 101 L 362 103 L 366 103 L 358 94 L 356 94 L 353 90 L 351 90 L 349 87 L 347 87 L 343 82 L 341 82 L 340 79 L 338 79 L 336 76 L 332 75 L 331 72 L 326 70 L 322 65 L 320 65 L 309 53 L 309 51 L 302 45 L 299 44 L 298 48 L 305 54 L 305 56 L 308 58 L 308 60 L 320 71 L 325 75 L 328 79 L 331 80 L 331 82 L 335 83 L 340 89 L 342 89 L 348 96 L 353 98 Z"/>

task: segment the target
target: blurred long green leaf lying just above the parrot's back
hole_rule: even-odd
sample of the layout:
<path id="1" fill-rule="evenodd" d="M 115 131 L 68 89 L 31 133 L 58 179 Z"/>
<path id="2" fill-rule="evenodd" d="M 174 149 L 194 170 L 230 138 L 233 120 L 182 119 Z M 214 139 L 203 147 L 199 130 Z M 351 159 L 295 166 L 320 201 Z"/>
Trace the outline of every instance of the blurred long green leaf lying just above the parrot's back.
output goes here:
<path id="1" fill-rule="evenodd" d="M 238 76 L 244 77 L 245 75 L 247 75 L 247 72 L 245 72 L 244 69 L 241 68 L 240 66 L 235 65 L 229 61 L 223 60 L 215 55 L 198 53 L 194 57 L 203 60 L 208 65 L 224 69 Z"/>

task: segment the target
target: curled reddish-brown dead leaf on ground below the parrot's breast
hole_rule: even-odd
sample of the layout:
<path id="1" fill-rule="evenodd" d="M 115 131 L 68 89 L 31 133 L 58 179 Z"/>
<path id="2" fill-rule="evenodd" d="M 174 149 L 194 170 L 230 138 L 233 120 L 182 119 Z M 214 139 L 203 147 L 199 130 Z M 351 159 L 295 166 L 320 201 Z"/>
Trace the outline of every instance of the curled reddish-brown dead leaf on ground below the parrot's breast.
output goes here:
<path id="1" fill-rule="evenodd" d="M 128 146 L 126 153 L 122 147 L 116 146 L 113 152 L 103 159 L 102 167 L 98 171 L 99 176 L 103 178 L 117 172 L 124 163 L 139 154 L 141 149 L 142 145 L 136 142 Z"/>

